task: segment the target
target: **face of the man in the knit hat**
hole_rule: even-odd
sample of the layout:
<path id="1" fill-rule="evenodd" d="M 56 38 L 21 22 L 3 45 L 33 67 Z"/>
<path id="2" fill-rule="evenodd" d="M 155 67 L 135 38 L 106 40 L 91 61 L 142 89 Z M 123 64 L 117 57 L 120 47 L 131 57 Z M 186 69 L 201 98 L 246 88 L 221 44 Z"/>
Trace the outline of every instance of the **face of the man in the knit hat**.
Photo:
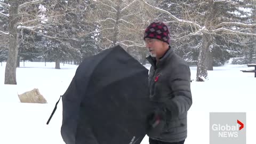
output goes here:
<path id="1" fill-rule="evenodd" d="M 151 57 L 161 58 L 165 52 L 164 42 L 155 38 L 145 38 L 145 45 Z"/>

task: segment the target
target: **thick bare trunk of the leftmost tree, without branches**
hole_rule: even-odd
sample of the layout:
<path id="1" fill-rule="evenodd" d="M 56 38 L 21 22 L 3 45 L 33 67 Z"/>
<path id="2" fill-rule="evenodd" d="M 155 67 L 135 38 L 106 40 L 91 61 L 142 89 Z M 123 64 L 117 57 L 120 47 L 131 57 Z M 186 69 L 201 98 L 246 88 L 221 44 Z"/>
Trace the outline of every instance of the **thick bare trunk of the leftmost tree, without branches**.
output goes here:
<path id="1" fill-rule="evenodd" d="M 16 82 L 16 66 L 18 56 L 18 36 L 17 36 L 17 20 L 18 20 L 18 0 L 9 2 L 9 53 L 5 67 L 4 84 L 17 84 Z"/>

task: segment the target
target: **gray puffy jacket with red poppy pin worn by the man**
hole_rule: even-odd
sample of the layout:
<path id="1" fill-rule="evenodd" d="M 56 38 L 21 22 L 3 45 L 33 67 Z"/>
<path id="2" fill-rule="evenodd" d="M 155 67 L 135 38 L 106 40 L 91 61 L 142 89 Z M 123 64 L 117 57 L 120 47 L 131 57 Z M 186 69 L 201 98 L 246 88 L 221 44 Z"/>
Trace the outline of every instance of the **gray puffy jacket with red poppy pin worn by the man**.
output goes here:
<path id="1" fill-rule="evenodd" d="M 157 139 L 178 142 L 187 138 L 187 111 L 192 105 L 190 91 L 190 69 L 187 62 L 169 48 L 156 65 L 155 58 L 149 56 L 150 100 L 156 105 L 164 103 L 166 122 Z"/>

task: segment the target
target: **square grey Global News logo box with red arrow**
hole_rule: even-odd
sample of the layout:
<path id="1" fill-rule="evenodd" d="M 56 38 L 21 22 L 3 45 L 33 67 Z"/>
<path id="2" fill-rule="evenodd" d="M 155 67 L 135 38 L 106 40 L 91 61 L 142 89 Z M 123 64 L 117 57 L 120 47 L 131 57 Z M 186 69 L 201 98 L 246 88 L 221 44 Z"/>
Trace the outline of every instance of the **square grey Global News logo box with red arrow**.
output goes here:
<path id="1" fill-rule="evenodd" d="M 210 113 L 210 144 L 246 144 L 246 113 Z"/>

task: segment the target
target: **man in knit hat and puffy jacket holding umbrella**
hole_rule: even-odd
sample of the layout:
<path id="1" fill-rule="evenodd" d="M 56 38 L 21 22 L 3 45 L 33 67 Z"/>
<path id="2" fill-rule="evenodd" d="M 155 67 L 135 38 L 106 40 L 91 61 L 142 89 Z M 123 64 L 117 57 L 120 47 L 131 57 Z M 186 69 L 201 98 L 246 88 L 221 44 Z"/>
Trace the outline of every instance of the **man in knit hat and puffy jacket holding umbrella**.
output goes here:
<path id="1" fill-rule="evenodd" d="M 189 66 L 169 46 L 169 29 L 163 22 L 151 23 L 143 39 L 150 52 L 150 100 L 155 103 L 148 121 L 149 143 L 183 144 L 192 105 Z"/>

